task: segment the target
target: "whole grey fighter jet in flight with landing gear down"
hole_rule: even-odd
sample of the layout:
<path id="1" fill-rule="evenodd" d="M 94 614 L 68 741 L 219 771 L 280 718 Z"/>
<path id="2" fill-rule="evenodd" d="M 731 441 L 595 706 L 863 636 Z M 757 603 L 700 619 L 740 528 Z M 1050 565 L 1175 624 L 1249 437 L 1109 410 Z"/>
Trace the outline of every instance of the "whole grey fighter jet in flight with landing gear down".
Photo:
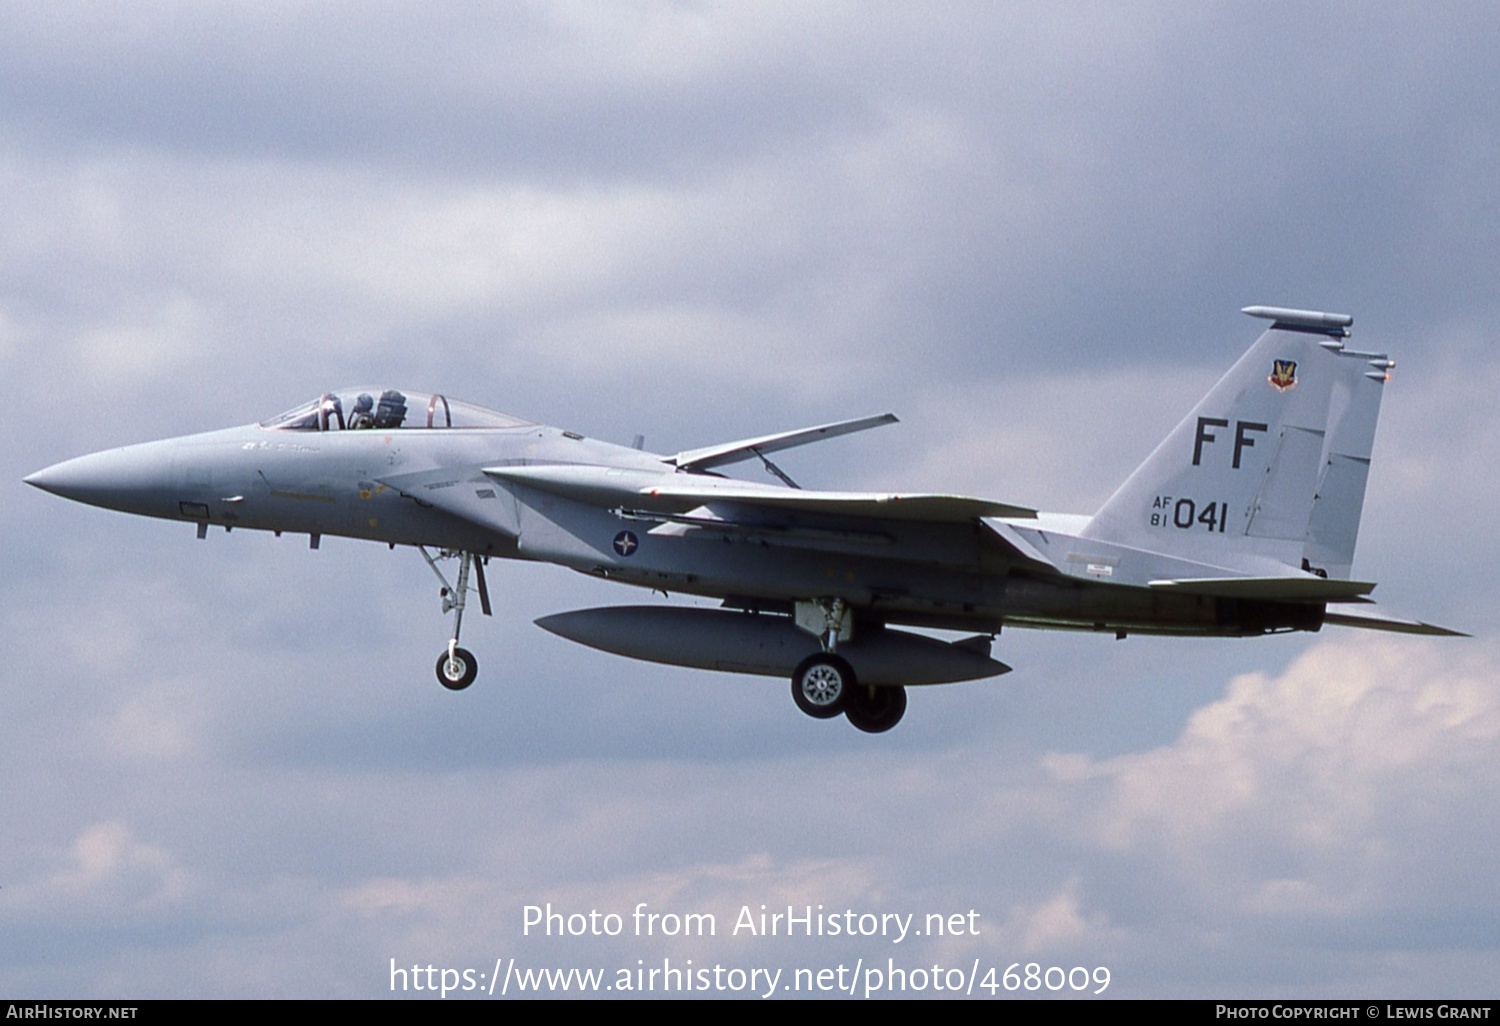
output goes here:
<path id="1" fill-rule="evenodd" d="M 1376 585 L 1350 576 L 1392 360 L 1350 348 L 1342 314 L 1244 312 L 1269 328 L 1094 516 L 804 489 L 771 460 L 891 414 L 663 454 L 380 387 L 82 456 L 26 482 L 186 520 L 200 538 L 222 526 L 306 534 L 314 549 L 326 534 L 414 546 L 453 614 L 436 662 L 452 690 L 477 674 L 459 632 L 471 596 L 490 612 L 494 558 L 720 600 L 537 624 L 632 658 L 786 676 L 802 712 L 872 734 L 900 722 L 908 686 L 1008 672 L 990 654 L 1004 627 L 1456 634 L 1378 610 Z M 752 460 L 778 483 L 720 472 Z"/>

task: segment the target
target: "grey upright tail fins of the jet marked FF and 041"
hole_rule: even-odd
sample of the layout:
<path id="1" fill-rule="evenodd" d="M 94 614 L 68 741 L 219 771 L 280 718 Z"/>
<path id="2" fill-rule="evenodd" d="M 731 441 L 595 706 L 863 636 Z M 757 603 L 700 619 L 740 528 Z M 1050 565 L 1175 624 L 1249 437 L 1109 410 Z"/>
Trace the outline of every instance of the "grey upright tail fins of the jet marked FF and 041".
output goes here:
<path id="1" fill-rule="evenodd" d="M 1348 579 L 1392 362 L 1346 346 L 1344 314 L 1248 306 L 1256 345 L 1089 522 L 1083 537 L 1232 572 Z"/>

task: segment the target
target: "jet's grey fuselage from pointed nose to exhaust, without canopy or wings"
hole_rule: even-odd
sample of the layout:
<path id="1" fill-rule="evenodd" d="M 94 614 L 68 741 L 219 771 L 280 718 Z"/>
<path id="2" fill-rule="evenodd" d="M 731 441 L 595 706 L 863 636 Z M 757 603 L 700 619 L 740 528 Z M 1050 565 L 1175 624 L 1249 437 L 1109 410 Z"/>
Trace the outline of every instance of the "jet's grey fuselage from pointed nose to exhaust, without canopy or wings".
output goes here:
<path id="1" fill-rule="evenodd" d="M 762 512 L 752 526 L 684 526 L 486 474 L 507 466 L 609 468 L 634 480 L 705 477 L 656 453 L 516 422 L 390 430 L 250 424 L 94 453 L 28 480 L 129 513 L 548 561 L 766 610 L 843 598 L 862 621 L 990 633 L 1008 622 L 1173 634 L 1317 627 L 1317 608 L 1305 604 L 1035 573 L 1000 542 L 1002 522 Z M 1038 530 L 1035 520 L 1026 525 Z"/>

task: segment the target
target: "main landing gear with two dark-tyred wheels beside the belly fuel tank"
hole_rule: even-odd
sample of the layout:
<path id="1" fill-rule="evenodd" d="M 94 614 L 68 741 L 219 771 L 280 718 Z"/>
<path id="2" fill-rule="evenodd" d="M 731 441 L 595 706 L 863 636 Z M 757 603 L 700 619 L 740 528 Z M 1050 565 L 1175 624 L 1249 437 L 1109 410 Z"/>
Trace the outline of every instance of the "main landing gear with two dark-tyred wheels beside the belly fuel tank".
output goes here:
<path id="1" fill-rule="evenodd" d="M 884 734 L 906 716 L 906 688 L 900 684 L 880 687 L 860 684 L 854 668 L 837 654 L 838 642 L 850 634 L 849 609 L 842 598 L 816 603 L 822 622 L 813 610 L 798 610 L 798 624 L 816 633 L 824 651 L 808 656 L 792 670 L 792 700 L 816 720 L 831 720 L 843 712 L 856 729 Z"/>

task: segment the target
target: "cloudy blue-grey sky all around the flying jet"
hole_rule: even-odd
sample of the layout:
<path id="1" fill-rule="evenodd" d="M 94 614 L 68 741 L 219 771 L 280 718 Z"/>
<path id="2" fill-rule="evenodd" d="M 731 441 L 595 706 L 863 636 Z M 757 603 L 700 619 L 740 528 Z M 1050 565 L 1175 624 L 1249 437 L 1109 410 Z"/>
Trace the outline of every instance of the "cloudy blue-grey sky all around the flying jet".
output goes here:
<path id="1" fill-rule="evenodd" d="M 1492 996 L 1496 38 L 1491 3 L 6 4 L 0 993 L 692 960 Z M 408 549 L 21 483 L 378 381 L 668 453 L 890 410 L 780 462 L 1092 513 L 1248 304 L 1396 360 L 1354 574 L 1473 638 L 1008 630 L 1012 674 L 872 736 L 570 645 L 531 621 L 644 596 L 492 564 L 454 694 Z M 760 906 L 963 928 L 732 930 Z"/>

